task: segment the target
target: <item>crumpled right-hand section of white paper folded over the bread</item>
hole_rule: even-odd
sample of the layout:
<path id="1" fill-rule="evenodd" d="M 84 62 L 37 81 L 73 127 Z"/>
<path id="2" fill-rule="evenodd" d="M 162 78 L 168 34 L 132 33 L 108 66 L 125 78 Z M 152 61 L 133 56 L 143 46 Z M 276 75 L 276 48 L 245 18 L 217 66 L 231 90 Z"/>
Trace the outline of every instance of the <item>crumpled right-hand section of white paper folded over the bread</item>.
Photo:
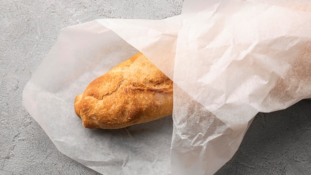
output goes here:
<path id="1" fill-rule="evenodd" d="M 311 13 L 185 1 L 174 67 L 172 174 L 213 174 L 259 111 L 311 96 Z"/>

